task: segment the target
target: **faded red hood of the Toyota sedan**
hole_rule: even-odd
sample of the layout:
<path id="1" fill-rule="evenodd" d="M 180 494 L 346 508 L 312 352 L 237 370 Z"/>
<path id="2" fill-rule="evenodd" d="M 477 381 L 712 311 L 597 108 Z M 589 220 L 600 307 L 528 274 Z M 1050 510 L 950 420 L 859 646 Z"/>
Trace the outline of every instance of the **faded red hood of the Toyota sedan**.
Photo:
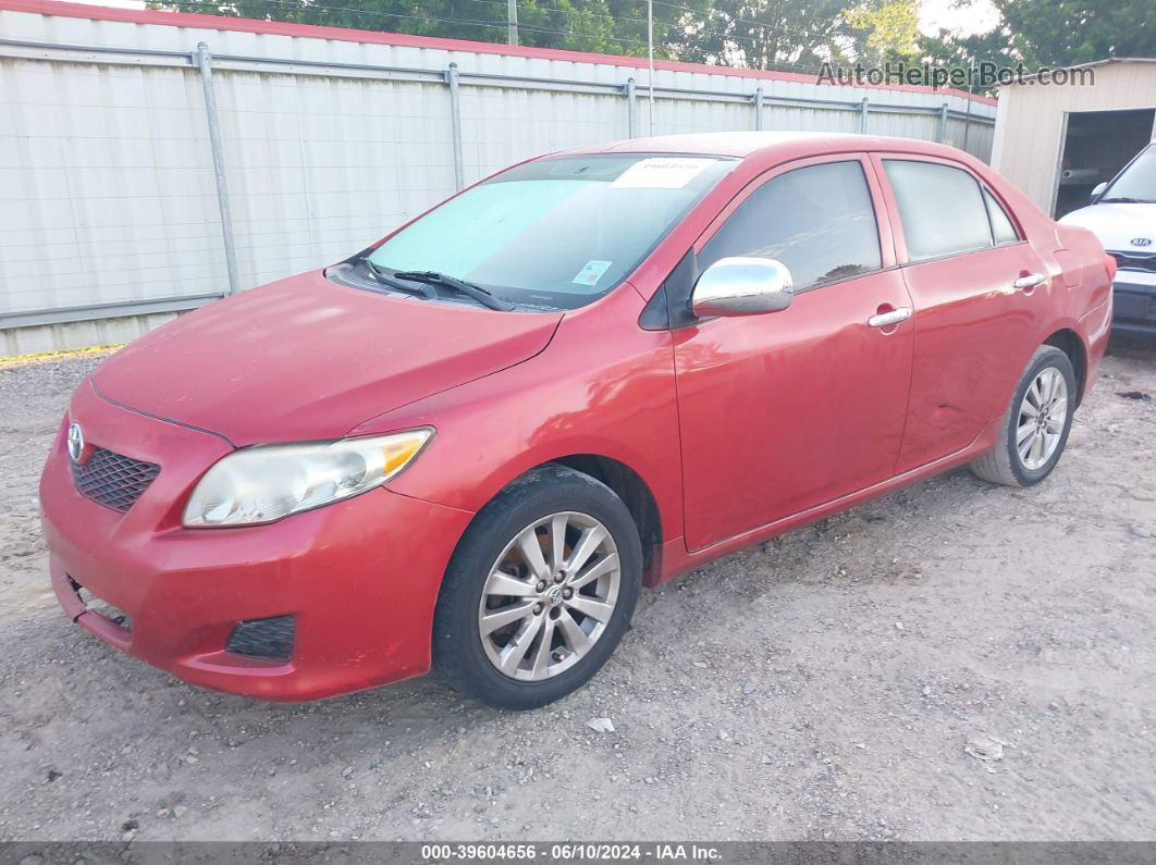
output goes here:
<path id="1" fill-rule="evenodd" d="M 238 447 L 335 439 L 533 357 L 561 318 L 361 291 L 316 271 L 186 314 L 110 357 L 94 382 Z"/>

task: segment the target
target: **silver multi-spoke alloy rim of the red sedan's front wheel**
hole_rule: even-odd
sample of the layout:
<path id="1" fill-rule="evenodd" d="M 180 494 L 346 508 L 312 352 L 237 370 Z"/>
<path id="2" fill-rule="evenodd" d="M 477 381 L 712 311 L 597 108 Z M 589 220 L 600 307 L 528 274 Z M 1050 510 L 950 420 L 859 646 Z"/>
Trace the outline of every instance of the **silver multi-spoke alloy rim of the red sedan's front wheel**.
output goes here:
<path id="1" fill-rule="evenodd" d="M 477 610 L 482 647 L 504 676 L 540 681 L 577 664 L 614 616 L 614 537 L 572 510 L 519 531 L 490 568 Z"/>

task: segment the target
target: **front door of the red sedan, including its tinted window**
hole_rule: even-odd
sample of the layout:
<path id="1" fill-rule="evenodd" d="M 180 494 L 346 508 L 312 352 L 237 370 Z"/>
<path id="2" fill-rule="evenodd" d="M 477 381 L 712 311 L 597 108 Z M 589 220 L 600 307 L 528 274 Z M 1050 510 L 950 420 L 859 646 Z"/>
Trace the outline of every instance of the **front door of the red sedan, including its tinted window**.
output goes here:
<path id="1" fill-rule="evenodd" d="M 891 477 L 912 328 L 880 323 L 911 310 L 880 196 L 866 157 L 791 163 L 696 244 L 699 273 L 731 255 L 776 259 L 795 296 L 674 331 L 689 550 Z"/>

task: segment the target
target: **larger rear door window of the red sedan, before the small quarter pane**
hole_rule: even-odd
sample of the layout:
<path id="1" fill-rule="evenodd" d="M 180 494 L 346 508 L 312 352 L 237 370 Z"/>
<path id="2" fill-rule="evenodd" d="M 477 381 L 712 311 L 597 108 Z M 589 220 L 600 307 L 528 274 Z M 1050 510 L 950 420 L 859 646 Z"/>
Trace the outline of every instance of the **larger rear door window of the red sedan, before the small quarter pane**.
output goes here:
<path id="1" fill-rule="evenodd" d="M 933 162 L 884 159 L 911 261 L 992 245 L 992 224 L 979 184 L 966 171 Z"/>

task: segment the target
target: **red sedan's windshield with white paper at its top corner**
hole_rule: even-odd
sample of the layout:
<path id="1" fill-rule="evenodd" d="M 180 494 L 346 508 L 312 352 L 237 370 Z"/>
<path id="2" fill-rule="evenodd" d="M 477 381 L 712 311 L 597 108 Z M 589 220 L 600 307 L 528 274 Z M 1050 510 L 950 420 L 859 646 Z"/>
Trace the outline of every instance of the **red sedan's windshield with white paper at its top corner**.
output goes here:
<path id="1" fill-rule="evenodd" d="M 576 308 L 630 274 L 738 161 L 653 154 L 519 165 L 398 232 L 370 258 L 514 304 Z"/>

